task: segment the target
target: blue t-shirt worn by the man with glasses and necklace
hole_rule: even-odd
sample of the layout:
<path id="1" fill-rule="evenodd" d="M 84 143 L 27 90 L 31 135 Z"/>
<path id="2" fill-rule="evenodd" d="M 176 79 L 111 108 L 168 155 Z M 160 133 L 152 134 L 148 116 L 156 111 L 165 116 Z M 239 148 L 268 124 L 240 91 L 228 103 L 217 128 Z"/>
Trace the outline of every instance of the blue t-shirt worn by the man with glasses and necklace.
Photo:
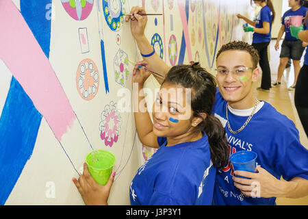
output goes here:
<path id="1" fill-rule="evenodd" d="M 226 125 L 226 104 L 227 101 L 217 92 L 214 114 L 226 129 L 230 154 L 254 151 L 257 153 L 257 164 L 277 179 L 281 176 L 287 181 L 294 177 L 308 179 L 308 150 L 300 144 L 298 130 L 291 120 L 264 101 L 248 125 L 234 135 Z M 235 116 L 228 111 L 228 118 L 232 129 L 238 130 L 248 116 Z M 276 198 L 245 196 L 235 188 L 232 177 L 230 163 L 217 171 L 214 205 L 276 205 Z"/>

